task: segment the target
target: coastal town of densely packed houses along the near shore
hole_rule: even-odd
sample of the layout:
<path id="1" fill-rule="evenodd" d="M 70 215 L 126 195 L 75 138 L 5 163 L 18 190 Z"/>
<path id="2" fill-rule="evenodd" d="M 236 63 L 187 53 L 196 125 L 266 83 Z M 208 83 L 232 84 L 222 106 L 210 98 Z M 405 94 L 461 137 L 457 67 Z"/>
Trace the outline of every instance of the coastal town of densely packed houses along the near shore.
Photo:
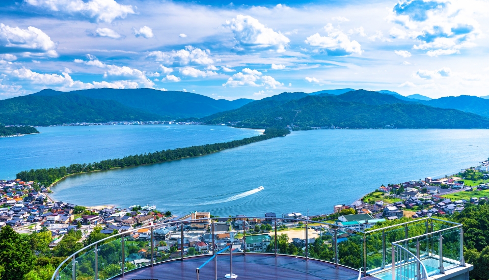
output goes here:
<path id="1" fill-rule="evenodd" d="M 276 227 L 279 234 L 285 235 L 288 243 L 300 252 L 307 243 L 314 243 L 330 228 L 328 224 L 315 224 L 315 221 L 340 227 L 339 237 L 347 238 L 355 231 L 366 231 L 388 220 L 442 217 L 462 211 L 467 204 L 485 203 L 489 200 L 488 172 L 489 161 L 483 161 L 477 167 L 445 178 L 427 177 L 382 185 L 350 205 L 335 205 L 331 214 L 308 216 L 292 212 L 277 216 L 269 212 L 264 213 L 263 218 L 244 215 L 216 217 L 209 212 L 198 211 L 177 216 L 149 205 L 84 207 L 51 200 L 49 187 L 35 182 L 0 180 L 0 227 L 10 226 L 18 233 L 50 231 L 50 248 L 56 248 L 71 232 L 79 231 L 81 242 L 94 232 L 110 236 L 142 228 L 132 231 L 128 237 L 131 241 L 144 241 L 138 243 L 141 247 L 126 258 L 126 262 L 135 266 L 149 262 L 151 234 L 150 229 L 144 227 L 155 223 L 158 226 L 152 234 L 153 246 L 157 248 L 154 257 L 160 260 L 181 256 L 182 243 L 185 256 L 207 254 L 212 248 L 219 250 L 230 242 L 236 251 L 265 252 L 270 250 Z M 194 219 L 204 220 L 191 221 Z M 303 231 L 304 223 L 294 219 L 310 221 L 307 237 Z M 183 228 L 176 224 L 183 224 Z M 244 234 L 246 238 L 243 238 Z"/>

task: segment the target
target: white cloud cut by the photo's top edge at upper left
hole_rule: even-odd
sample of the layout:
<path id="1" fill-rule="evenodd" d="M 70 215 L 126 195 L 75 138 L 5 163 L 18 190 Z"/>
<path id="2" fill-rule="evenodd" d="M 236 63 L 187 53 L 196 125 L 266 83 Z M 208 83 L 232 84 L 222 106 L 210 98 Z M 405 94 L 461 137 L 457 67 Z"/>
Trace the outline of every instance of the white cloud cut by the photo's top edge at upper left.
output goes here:
<path id="1" fill-rule="evenodd" d="M 115 0 L 25 0 L 26 3 L 42 9 L 50 10 L 53 14 L 63 14 L 94 22 L 111 23 L 116 18 L 125 18 L 134 14 L 130 5 L 121 5 Z"/>

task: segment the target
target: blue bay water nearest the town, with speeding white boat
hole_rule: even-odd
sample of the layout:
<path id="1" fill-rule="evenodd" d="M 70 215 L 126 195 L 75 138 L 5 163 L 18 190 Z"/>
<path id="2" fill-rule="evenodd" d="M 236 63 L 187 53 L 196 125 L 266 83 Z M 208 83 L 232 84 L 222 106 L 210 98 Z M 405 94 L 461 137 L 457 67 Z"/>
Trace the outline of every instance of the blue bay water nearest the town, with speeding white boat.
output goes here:
<path id="1" fill-rule="evenodd" d="M 489 130 L 313 130 L 218 153 L 70 176 L 56 200 L 183 214 L 330 213 L 381 184 L 443 177 L 489 156 Z M 258 190 L 263 186 L 263 190 Z"/>

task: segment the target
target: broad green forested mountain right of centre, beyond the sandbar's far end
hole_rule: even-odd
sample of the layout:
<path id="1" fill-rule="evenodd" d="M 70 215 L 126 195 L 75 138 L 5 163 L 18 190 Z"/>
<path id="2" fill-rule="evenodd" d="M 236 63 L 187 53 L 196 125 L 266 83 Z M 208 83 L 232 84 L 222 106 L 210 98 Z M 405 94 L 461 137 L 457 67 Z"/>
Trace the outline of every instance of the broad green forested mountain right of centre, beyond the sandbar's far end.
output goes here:
<path id="1" fill-rule="evenodd" d="M 370 96 L 368 96 L 370 95 Z M 306 96 L 282 104 L 255 101 L 241 108 L 203 118 L 207 124 L 238 122 L 237 126 L 340 126 L 374 128 L 489 127 L 489 119 L 455 109 L 441 109 L 355 91 L 339 96 Z"/>

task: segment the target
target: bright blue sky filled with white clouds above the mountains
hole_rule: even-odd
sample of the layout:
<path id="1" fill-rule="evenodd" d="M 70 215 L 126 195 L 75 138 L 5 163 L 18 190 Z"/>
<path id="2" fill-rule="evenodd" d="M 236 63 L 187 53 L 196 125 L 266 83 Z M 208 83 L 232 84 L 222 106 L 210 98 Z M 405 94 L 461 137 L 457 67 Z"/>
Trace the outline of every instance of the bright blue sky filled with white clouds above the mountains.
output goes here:
<path id="1" fill-rule="evenodd" d="M 155 88 L 215 99 L 488 92 L 487 1 L 0 3 L 0 99 Z"/>

